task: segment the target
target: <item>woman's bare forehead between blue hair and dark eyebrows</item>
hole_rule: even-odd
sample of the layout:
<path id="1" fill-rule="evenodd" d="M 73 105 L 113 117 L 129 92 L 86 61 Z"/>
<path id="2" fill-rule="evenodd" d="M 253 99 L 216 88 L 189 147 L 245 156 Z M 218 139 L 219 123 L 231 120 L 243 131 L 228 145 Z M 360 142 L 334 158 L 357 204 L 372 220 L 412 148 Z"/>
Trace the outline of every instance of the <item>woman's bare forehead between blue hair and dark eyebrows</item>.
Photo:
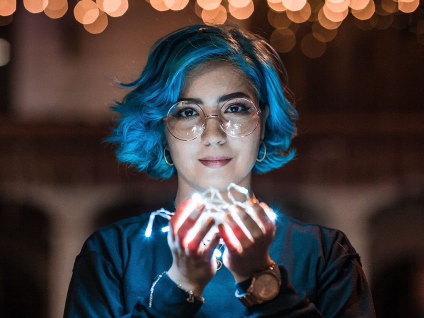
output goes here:
<path id="1" fill-rule="evenodd" d="M 187 74 L 181 97 L 219 99 L 235 92 L 246 94 L 252 101 L 257 99 L 254 85 L 238 67 L 227 61 L 213 61 Z"/>

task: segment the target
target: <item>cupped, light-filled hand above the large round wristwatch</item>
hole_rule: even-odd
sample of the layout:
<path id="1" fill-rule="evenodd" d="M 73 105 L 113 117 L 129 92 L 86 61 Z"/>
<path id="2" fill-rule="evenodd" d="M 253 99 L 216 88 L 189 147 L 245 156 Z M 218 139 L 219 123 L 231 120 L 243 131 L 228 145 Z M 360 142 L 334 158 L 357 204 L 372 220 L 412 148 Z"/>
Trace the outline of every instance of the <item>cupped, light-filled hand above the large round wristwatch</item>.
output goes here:
<path id="1" fill-rule="evenodd" d="M 238 216 L 250 232 L 251 238 L 244 233 L 230 214 L 225 216 L 227 225 L 218 224 L 219 235 L 225 242 L 222 261 L 236 282 L 251 278 L 253 274 L 266 269 L 272 263 L 269 246 L 275 236 L 275 222 L 265 213 L 265 210 L 270 208 L 264 202 L 259 203 L 256 198 L 248 199 L 248 204 L 262 225 L 259 226 L 244 209 L 238 209 Z M 239 243 L 230 238 L 229 230 L 232 230 Z"/>

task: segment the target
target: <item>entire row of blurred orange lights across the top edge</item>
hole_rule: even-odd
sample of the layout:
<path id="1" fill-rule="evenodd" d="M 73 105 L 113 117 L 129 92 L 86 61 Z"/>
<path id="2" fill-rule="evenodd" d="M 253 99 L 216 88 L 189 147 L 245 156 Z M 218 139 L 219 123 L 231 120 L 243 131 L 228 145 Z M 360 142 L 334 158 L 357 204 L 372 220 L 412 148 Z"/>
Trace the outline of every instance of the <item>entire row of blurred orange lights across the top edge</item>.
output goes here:
<path id="1" fill-rule="evenodd" d="M 363 30 L 409 29 L 424 44 L 424 10 L 419 0 L 146 0 L 158 11 L 181 10 L 189 2 L 206 24 L 222 24 L 227 18 L 247 19 L 254 3 L 266 1 L 267 18 L 275 28 L 270 40 L 279 52 L 289 52 L 298 43 L 302 52 L 321 56 L 338 33 L 338 27 L 351 15 Z M 67 0 L 23 0 L 25 8 L 43 11 L 59 18 L 68 10 Z M 79 0 L 73 8 L 75 19 L 91 33 L 102 32 L 108 17 L 121 16 L 128 9 L 128 0 Z M 0 0 L 0 25 L 12 21 L 16 0 Z M 301 32 L 297 32 L 302 24 Z M 306 32 L 304 30 L 306 29 Z M 297 34 L 296 34 L 297 33 Z M 301 33 L 301 34 L 300 34 Z"/>

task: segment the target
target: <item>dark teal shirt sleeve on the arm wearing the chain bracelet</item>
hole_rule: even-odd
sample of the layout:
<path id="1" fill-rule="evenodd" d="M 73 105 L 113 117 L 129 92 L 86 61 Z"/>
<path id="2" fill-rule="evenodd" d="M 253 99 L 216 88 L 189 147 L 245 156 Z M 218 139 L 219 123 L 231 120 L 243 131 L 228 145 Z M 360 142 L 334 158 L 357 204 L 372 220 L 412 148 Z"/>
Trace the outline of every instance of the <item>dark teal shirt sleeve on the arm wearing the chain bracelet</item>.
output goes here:
<path id="1" fill-rule="evenodd" d="M 153 283 L 153 281 L 152 281 Z M 121 278 L 97 251 L 77 256 L 66 298 L 64 317 L 193 317 L 202 302 L 187 301 L 184 290 L 163 274 L 151 292 L 140 295 L 132 312 L 124 312 Z M 149 306 L 149 301 L 151 306 Z"/>

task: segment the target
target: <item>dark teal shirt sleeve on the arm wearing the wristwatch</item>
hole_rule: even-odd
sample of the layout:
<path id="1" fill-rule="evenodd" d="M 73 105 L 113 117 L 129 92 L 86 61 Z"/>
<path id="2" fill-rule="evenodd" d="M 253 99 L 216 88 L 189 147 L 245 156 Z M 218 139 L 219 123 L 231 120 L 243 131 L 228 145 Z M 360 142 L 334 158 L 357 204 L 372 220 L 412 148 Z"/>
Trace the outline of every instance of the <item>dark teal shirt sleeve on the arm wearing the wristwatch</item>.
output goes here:
<path id="1" fill-rule="evenodd" d="M 342 232 L 329 237 L 330 247 L 325 266 L 318 274 L 316 300 L 312 303 L 304 292 L 298 293 L 279 265 L 281 287 L 278 295 L 262 304 L 246 308 L 248 317 L 375 317 L 370 288 L 362 270 L 359 255 Z M 299 264 L 306 265 L 306 264 Z M 238 293 L 249 284 L 236 284 Z"/>

